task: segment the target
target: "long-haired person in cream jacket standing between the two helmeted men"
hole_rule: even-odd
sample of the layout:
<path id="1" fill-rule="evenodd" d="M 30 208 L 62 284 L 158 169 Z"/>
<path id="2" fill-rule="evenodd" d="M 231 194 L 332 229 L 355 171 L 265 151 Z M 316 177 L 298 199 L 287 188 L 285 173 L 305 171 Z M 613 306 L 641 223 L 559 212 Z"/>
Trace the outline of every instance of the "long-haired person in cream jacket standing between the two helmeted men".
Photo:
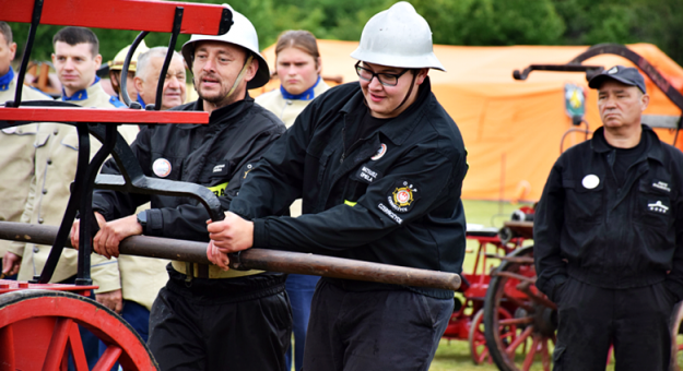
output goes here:
<path id="1" fill-rule="evenodd" d="M 275 45 L 275 73 L 280 88 L 262 94 L 256 103 L 275 113 L 290 128 L 301 111 L 318 95 L 330 88 L 320 77 L 321 59 L 316 37 L 308 31 L 285 31 Z M 302 201 L 291 206 L 292 216 L 302 214 Z M 294 364 L 301 370 L 304 362 L 306 328 L 310 316 L 310 301 L 320 277 L 291 274 L 286 290 L 294 316 Z M 286 354 L 287 370 L 292 369 L 292 347 Z"/>

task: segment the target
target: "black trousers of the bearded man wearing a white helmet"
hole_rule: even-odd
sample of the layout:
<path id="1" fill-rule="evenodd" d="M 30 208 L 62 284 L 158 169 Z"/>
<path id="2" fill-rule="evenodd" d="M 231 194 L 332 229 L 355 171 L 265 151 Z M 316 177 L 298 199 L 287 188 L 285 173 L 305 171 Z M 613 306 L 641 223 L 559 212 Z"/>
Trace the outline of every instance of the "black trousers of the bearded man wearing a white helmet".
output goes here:
<path id="1" fill-rule="evenodd" d="M 161 370 L 284 371 L 292 311 L 284 275 L 195 278 L 169 268 L 150 313 Z"/>

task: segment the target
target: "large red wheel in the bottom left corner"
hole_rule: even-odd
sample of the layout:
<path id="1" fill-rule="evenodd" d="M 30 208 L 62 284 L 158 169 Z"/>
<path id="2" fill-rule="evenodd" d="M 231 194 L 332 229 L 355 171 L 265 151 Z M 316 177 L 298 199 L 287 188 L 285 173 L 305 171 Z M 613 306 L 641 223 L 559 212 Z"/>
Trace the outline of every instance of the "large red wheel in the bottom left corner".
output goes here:
<path id="1" fill-rule="evenodd" d="M 79 325 L 107 345 L 93 370 L 116 362 L 123 370 L 158 370 L 140 336 L 106 307 L 71 292 L 33 289 L 0 295 L 0 369 L 66 370 L 71 355 L 76 371 L 87 371 Z"/>

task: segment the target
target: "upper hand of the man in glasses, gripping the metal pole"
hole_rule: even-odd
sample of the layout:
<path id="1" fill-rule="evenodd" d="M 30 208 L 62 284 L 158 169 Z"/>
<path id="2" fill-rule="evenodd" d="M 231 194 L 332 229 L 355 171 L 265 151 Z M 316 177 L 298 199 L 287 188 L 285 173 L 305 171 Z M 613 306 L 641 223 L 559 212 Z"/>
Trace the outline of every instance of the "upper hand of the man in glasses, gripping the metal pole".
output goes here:
<path id="1" fill-rule="evenodd" d="M 247 250 L 254 246 L 254 222 L 226 212 L 225 219 L 213 222 L 207 227 L 214 247 L 223 253 Z"/>

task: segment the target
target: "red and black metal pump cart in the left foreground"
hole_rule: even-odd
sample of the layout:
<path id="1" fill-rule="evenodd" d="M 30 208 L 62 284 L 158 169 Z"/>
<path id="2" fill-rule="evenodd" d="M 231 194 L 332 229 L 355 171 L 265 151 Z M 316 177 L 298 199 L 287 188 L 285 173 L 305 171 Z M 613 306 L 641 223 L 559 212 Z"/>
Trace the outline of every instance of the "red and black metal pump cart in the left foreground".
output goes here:
<path id="1" fill-rule="evenodd" d="M 113 151 L 120 165 L 121 156 L 116 153 L 118 149 L 116 142 L 121 141 L 116 130 L 117 124 L 207 123 L 209 115 L 158 111 L 161 87 L 157 88 L 156 110 L 152 111 L 89 109 L 62 101 L 32 101 L 22 105 L 23 80 L 38 24 L 142 31 L 127 58 L 123 70 L 126 74 L 132 52 L 150 32 L 170 33 L 168 49 L 174 50 L 180 33 L 213 35 L 226 33 L 232 25 L 232 12 L 220 5 L 146 0 L 0 0 L 0 9 L 3 9 L 0 15 L 2 21 L 31 23 L 24 57 L 17 73 L 15 98 L 0 108 L 0 128 L 34 121 L 72 124 L 76 127 L 81 149 L 72 195 L 59 232 L 52 239 L 52 250 L 42 275 L 35 277 L 32 283 L 0 280 L 2 360 L 0 370 L 66 370 L 69 357 L 72 358 L 76 370 L 87 370 L 79 325 L 107 345 L 95 370 L 109 370 L 117 361 L 125 370 L 156 370 L 154 358 L 130 326 L 110 310 L 83 296 L 95 288 L 90 277 L 91 241 L 94 235 L 94 228 L 90 223 L 84 223 L 85 228 L 81 228 L 84 229 L 81 231 L 81 241 L 85 243 L 79 251 L 75 285 L 47 283 L 66 246 L 76 212 L 80 211 L 84 220 L 85 216 L 92 216 L 92 189 L 97 169 Z M 148 14 L 153 16 L 145 16 Z M 172 53 L 168 52 L 160 81 L 164 80 L 170 57 Z M 126 100 L 131 106 L 130 99 Z M 97 136 L 103 142 L 102 149 L 92 160 L 87 158 L 89 130 L 98 133 Z M 123 168 L 129 168 L 128 165 L 123 165 Z M 137 169 L 132 170 L 133 176 L 139 175 L 134 171 Z M 196 196 L 199 194 L 199 198 L 202 198 L 201 192 L 187 184 L 178 187 L 169 183 L 149 183 L 145 179 L 130 177 L 131 173 L 125 172 L 125 176 L 128 176 L 126 179 L 105 179 L 98 184 L 118 189 L 137 188 L 148 192 L 156 189 L 168 194 L 196 194 Z M 204 199 L 211 206 L 212 200 Z"/>

